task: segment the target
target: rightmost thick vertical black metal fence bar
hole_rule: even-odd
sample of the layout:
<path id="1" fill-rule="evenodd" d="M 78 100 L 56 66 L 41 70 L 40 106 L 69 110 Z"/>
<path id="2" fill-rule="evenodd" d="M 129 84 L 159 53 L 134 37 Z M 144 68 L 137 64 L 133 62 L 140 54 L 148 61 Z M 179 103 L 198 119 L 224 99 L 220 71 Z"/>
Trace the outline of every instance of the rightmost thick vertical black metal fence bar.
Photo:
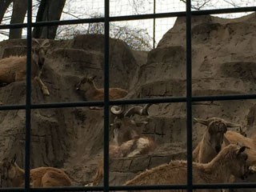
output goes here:
<path id="1" fill-rule="evenodd" d="M 186 150 L 187 191 L 192 192 L 192 66 L 191 66 L 191 2 L 186 0 Z"/>

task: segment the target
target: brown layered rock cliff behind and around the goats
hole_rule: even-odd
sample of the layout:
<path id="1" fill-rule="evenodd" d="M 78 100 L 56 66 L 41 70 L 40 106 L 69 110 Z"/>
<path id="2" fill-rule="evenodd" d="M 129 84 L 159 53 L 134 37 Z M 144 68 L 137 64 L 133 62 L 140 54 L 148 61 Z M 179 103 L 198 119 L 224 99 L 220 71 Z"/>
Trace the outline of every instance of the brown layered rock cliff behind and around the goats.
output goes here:
<path id="1" fill-rule="evenodd" d="M 194 96 L 255 93 L 255 18 L 256 14 L 236 19 L 192 18 Z M 96 74 L 96 85 L 102 87 L 103 41 L 99 34 L 50 41 L 42 72 L 50 96 L 43 96 L 33 82 L 32 102 L 83 101 L 75 86 L 86 75 Z M 25 54 L 25 46 L 24 39 L 0 42 L 0 58 Z M 150 52 L 131 50 L 126 43 L 110 39 L 110 87 L 128 90 L 127 98 L 186 96 L 185 18 L 178 18 L 158 47 Z M 26 82 L 0 87 L 0 101 L 7 105 L 24 104 Z M 110 185 L 122 185 L 139 172 L 171 159 L 186 159 L 186 103 L 156 104 L 150 106 L 149 114 L 150 122 L 142 127 L 142 132 L 154 137 L 157 149 L 148 155 L 115 159 L 114 166 L 110 165 Z M 254 100 L 194 102 L 193 117 L 224 118 L 240 123 L 248 136 L 255 134 Z M 16 153 L 18 164 L 24 165 L 25 111 L 0 111 L 0 126 L 0 156 L 10 158 Z M 202 138 L 203 130 L 203 126 L 193 125 L 193 147 Z M 102 143 L 102 110 L 88 107 L 32 110 L 32 167 L 62 168 L 74 186 L 83 186 L 95 174 Z"/>

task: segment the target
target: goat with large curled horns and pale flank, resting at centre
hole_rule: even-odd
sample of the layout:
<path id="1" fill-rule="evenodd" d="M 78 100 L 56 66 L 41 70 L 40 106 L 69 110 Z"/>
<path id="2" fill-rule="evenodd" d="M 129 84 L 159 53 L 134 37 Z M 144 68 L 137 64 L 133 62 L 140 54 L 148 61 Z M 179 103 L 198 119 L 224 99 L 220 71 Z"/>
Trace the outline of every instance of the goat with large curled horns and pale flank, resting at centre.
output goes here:
<path id="1" fill-rule="evenodd" d="M 134 106 L 124 112 L 118 106 L 112 106 L 111 112 L 118 115 L 114 119 L 114 142 L 110 145 L 110 162 L 113 158 L 134 157 L 138 154 L 148 154 L 155 149 L 154 138 L 143 136 L 138 130 L 138 126 L 147 122 L 134 122 L 130 119 L 134 114 L 148 115 L 149 104 L 146 106 Z M 93 182 L 86 186 L 97 186 L 103 177 L 103 158 L 98 163 L 98 170 L 94 176 Z"/>

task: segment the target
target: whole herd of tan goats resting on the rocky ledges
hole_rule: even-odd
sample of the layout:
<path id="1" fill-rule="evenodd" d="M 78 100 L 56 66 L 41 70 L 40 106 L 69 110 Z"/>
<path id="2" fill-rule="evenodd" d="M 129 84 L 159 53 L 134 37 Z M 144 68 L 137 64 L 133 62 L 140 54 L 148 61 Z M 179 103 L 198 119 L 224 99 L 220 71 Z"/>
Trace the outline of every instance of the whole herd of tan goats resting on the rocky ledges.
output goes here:
<path id="1" fill-rule="evenodd" d="M 31 69 L 32 78 L 41 86 L 42 94 L 50 95 L 46 85 L 40 79 L 42 67 L 46 57 L 48 40 L 41 43 L 33 39 L 37 45 L 32 49 Z M 102 100 L 104 90 L 94 85 L 95 77 L 82 78 L 77 86 L 87 101 Z M 26 56 L 10 56 L 0 60 L 0 83 L 26 79 Z M 124 98 L 128 94 L 121 88 L 110 88 L 110 99 Z M 134 106 L 125 109 L 123 106 L 111 106 L 110 112 L 114 115 L 110 124 L 114 131 L 114 144 L 111 144 L 110 162 L 113 158 L 134 157 L 139 154 L 149 154 L 156 148 L 154 138 L 143 135 L 139 126 L 147 122 L 135 122 L 134 114 L 148 115 L 151 104 Z M 90 107 L 95 109 L 95 107 Z M 101 110 L 97 107 L 97 110 Z M 201 142 L 193 151 L 193 182 L 194 183 L 223 183 L 235 182 L 236 178 L 246 178 L 254 174 L 256 164 L 256 135 L 247 138 L 242 131 L 227 130 L 229 127 L 241 126 L 226 122 L 222 118 L 208 118 L 206 120 L 194 118 L 195 122 L 206 126 Z M 16 163 L 14 158 L 3 159 L 0 162 L 1 181 L 6 186 L 24 186 L 25 172 Z M 93 181 L 86 186 L 97 186 L 103 177 L 103 158 L 98 163 L 98 170 Z M 187 162 L 174 160 L 156 166 L 138 174 L 124 185 L 155 185 L 155 184 L 186 184 Z M 71 186 L 69 176 L 62 170 L 54 167 L 38 167 L 30 170 L 30 186 Z M 183 191 L 183 190 L 182 190 Z M 184 190 L 185 191 L 185 190 Z M 219 190 L 200 190 L 219 191 Z"/>

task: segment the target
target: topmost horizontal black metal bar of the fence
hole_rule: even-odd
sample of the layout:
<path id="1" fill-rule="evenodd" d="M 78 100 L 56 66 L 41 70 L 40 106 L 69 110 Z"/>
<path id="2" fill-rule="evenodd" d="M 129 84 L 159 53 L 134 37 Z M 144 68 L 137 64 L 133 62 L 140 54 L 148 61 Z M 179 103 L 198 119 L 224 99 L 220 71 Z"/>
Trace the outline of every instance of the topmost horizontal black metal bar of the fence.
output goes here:
<path id="1" fill-rule="evenodd" d="M 230 14 L 230 13 L 241 13 L 256 11 L 256 6 L 250 7 L 239 7 L 239 8 L 228 8 L 218 10 L 194 10 L 191 11 L 192 15 L 206 15 L 206 14 Z M 150 18 L 173 18 L 173 17 L 185 17 L 186 11 L 161 13 L 161 14 L 140 14 L 140 15 L 129 15 L 129 16 L 118 16 L 110 17 L 110 22 L 121 22 L 121 21 L 132 21 L 138 19 L 150 19 Z M 63 26 L 63 25 L 74 25 L 90 22 L 104 22 L 104 18 L 81 18 L 81 19 L 70 19 L 62 21 L 48 21 L 48 22 L 33 22 L 32 26 Z M 16 29 L 24 28 L 27 23 L 17 23 L 10 25 L 0 25 L 0 30 L 5 29 Z"/>

